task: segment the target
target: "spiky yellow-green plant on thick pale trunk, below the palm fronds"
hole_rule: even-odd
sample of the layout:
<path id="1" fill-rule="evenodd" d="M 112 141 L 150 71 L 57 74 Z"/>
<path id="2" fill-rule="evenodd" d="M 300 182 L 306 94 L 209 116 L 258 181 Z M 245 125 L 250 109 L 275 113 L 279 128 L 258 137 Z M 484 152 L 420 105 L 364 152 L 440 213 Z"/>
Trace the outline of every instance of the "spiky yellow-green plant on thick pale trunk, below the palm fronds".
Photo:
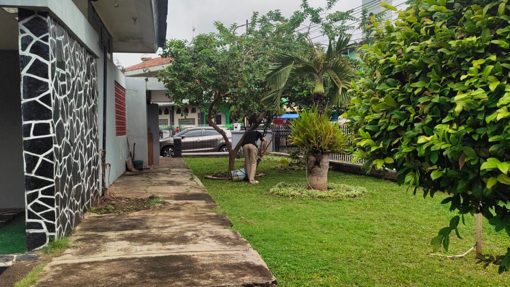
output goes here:
<path id="1" fill-rule="evenodd" d="M 343 152 L 347 147 L 344 135 L 325 113 L 319 113 L 317 106 L 299 114 L 291 123 L 290 140 L 307 155 L 308 188 L 327 190 L 329 153 Z"/>

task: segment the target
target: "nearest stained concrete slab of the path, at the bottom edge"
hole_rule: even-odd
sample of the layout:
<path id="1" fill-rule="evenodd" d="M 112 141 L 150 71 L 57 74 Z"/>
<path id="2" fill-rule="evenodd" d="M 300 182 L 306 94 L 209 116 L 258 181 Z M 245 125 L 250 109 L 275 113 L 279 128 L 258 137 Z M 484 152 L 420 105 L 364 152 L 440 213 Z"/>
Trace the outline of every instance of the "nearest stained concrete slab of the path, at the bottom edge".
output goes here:
<path id="1" fill-rule="evenodd" d="M 37 286 L 277 286 L 253 250 L 54 260 Z"/>

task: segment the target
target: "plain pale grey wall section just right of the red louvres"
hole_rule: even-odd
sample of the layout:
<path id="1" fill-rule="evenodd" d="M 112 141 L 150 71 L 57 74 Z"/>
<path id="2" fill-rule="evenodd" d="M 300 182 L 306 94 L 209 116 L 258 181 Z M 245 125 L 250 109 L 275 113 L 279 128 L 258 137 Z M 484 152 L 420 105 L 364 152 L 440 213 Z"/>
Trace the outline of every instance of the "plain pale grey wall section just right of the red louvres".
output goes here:
<path id="1" fill-rule="evenodd" d="M 135 146 L 135 161 L 143 161 L 147 167 L 147 108 L 145 80 L 142 77 L 127 77 L 126 79 L 126 130 L 127 139 L 133 152 Z M 159 133 L 159 130 L 158 130 Z M 159 135 L 159 134 L 158 134 Z"/>

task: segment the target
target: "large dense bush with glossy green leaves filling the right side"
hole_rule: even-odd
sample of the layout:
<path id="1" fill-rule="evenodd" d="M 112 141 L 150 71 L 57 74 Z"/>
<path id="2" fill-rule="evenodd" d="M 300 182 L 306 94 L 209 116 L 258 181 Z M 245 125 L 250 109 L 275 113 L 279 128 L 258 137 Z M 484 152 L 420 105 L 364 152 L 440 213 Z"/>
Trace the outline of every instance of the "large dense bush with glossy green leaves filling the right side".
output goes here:
<path id="1" fill-rule="evenodd" d="M 347 116 L 360 129 L 356 159 L 395 168 L 424 197 L 444 191 L 451 211 L 481 213 L 510 235 L 509 23 L 506 0 L 411 1 L 394 24 L 374 24 Z M 434 249 L 460 237 L 459 221 Z M 510 249 L 492 262 L 507 271 Z"/>

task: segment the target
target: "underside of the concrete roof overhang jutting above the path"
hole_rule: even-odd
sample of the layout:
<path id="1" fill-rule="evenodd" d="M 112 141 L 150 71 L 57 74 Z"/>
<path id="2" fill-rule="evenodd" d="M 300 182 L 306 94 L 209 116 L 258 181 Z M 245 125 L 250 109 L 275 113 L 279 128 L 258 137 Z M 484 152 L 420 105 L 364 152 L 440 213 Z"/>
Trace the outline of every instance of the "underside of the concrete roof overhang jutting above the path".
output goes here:
<path id="1" fill-rule="evenodd" d="M 168 0 L 92 0 L 117 53 L 155 53 L 166 38 Z"/>

